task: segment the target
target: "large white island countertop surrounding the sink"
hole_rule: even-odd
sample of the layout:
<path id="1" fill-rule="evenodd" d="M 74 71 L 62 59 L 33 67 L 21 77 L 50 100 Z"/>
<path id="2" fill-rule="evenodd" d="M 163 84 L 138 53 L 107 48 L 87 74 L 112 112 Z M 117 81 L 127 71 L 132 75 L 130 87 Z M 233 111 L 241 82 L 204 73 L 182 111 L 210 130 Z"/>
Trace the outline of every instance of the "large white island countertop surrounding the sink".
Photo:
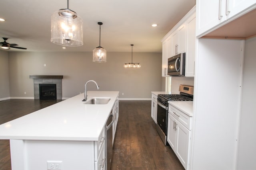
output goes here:
<path id="1" fill-rule="evenodd" d="M 0 139 L 98 141 L 119 92 L 88 91 L 108 104 L 84 104 L 84 93 L 0 125 Z"/>

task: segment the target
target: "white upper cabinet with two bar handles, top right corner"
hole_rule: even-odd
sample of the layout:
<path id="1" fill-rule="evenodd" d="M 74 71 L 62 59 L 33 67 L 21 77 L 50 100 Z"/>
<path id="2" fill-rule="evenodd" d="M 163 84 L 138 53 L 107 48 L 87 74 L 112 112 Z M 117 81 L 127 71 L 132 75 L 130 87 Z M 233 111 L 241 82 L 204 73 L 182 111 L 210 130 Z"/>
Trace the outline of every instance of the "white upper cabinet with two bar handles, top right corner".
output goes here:
<path id="1" fill-rule="evenodd" d="M 196 0 L 196 36 L 201 37 L 235 19 L 255 4 L 256 0 Z"/>

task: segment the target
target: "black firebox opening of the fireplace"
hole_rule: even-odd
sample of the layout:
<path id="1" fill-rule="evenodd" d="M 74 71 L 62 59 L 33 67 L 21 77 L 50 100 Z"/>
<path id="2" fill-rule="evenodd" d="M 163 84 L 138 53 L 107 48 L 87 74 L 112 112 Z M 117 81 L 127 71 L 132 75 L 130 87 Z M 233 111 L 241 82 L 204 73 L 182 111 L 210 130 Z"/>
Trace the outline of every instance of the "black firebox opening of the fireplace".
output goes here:
<path id="1" fill-rule="evenodd" d="M 56 84 L 39 84 L 40 99 L 56 99 Z"/>

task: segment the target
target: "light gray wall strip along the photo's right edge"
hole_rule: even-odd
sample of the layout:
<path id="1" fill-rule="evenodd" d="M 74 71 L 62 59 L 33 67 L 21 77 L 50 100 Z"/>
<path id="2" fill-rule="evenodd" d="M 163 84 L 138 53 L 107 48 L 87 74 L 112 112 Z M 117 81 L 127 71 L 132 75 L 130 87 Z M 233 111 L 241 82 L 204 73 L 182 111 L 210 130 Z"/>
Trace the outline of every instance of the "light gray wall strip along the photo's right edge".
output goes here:
<path id="1" fill-rule="evenodd" d="M 256 37 L 245 42 L 242 110 L 237 170 L 255 170 L 256 152 Z"/>

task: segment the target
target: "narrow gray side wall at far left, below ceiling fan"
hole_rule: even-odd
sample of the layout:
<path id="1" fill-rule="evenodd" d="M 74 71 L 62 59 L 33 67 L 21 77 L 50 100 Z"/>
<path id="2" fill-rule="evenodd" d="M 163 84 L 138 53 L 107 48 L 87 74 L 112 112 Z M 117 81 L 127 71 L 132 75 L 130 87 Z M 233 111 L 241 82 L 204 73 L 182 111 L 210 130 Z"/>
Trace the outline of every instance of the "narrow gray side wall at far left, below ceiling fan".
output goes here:
<path id="1" fill-rule="evenodd" d="M 10 97 L 8 52 L 0 50 L 0 99 Z"/>

